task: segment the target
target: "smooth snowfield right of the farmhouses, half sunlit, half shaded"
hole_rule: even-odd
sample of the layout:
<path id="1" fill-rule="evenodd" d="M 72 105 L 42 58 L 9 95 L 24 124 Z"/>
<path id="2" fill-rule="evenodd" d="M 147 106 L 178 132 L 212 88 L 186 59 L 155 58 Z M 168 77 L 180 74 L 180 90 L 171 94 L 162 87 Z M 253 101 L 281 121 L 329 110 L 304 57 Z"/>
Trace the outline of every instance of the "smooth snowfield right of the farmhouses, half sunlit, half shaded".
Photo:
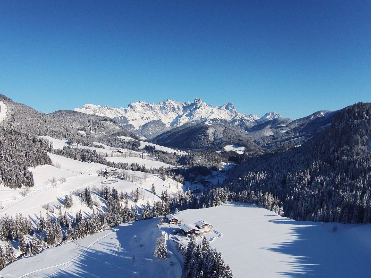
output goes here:
<path id="1" fill-rule="evenodd" d="M 177 217 L 190 224 L 202 218 L 213 225 L 213 232 L 202 236 L 237 278 L 370 277 L 370 224 L 294 221 L 231 202 L 181 211 Z"/>

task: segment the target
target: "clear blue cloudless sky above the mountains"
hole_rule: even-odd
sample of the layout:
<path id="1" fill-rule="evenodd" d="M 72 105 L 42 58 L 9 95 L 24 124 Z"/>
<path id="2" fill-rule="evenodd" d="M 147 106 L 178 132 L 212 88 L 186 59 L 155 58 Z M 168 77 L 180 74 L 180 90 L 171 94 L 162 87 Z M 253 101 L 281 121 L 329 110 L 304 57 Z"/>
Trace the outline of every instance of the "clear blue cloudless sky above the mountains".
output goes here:
<path id="1" fill-rule="evenodd" d="M 41 112 L 145 100 L 296 119 L 371 102 L 371 1 L 1 1 L 0 93 Z"/>

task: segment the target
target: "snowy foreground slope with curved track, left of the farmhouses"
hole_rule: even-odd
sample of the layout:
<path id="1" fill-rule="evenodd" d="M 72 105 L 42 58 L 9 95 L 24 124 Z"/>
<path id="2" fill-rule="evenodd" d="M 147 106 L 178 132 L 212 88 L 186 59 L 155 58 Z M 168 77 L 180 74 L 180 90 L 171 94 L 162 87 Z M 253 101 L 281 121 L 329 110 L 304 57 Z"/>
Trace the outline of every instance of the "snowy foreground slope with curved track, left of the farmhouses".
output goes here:
<path id="1" fill-rule="evenodd" d="M 179 254 L 171 255 L 167 260 L 157 259 L 153 255 L 155 240 L 162 232 L 157 228 L 157 222 L 158 218 L 127 222 L 78 241 L 45 249 L 35 257 L 13 262 L 2 269 L 0 275 L 4 278 L 179 278 L 182 269 Z M 137 235 L 137 241 L 134 240 L 134 234 Z M 168 249 L 173 248 L 171 244 L 168 244 Z"/>

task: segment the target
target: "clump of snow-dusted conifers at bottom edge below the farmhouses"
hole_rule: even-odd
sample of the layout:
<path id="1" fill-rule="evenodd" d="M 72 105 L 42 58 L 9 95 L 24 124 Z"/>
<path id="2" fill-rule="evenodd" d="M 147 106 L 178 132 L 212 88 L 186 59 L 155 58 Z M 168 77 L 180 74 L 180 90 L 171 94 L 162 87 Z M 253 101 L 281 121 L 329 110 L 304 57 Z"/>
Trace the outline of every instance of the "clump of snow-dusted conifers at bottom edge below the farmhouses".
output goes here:
<path id="1" fill-rule="evenodd" d="M 206 237 L 197 244 L 194 235 L 184 252 L 184 271 L 187 278 L 233 278 L 221 253 L 210 247 Z"/>

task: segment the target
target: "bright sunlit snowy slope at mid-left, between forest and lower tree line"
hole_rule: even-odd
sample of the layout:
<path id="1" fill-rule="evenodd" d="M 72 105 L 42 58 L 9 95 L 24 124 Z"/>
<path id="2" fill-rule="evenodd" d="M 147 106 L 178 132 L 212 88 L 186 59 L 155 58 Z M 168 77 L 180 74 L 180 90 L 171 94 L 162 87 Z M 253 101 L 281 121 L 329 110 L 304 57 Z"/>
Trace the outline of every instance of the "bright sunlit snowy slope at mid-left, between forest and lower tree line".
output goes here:
<path id="1" fill-rule="evenodd" d="M 160 176 L 152 174 L 147 174 L 147 178 L 144 179 L 143 172 L 138 171 L 127 170 L 130 175 L 138 177 L 137 182 L 104 178 L 97 175 L 97 170 L 108 168 L 105 165 L 73 160 L 52 153 L 48 153 L 48 155 L 52 159 L 53 164 L 58 167 L 40 165 L 36 168 L 31 168 L 30 170 L 33 173 L 35 185 L 25 197 L 21 194 L 23 189 L 10 189 L 0 186 L 0 203 L 4 207 L 0 211 L 0 216 L 4 214 L 14 216 L 16 213 L 22 213 L 25 216 L 30 214 L 32 218 L 37 218 L 40 211 L 42 211 L 44 215 L 46 214 L 43 205 L 50 203 L 50 205 L 56 206 L 59 203 L 57 198 L 63 199 L 66 193 L 85 187 L 90 187 L 91 189 L 95 187 L 99 189 L 102 184 L 115 187 L 118 192 L 122 190 L 123 192 L 130 193 L 132 190 L 138 188 L 143 196 L 143 198 L 137 202 L 139 207 L 145 205 L 147 199 L 151 204 L 153 201 L 158 201 L 162 191 L 167 190 L 169 193 L 175 193 L 178 190 L 183 190 L 183 185 L 181 183 L 178 183 L 179 189 L 176 189 L 177 182 L 173 179 L 168 179 L 168 181 L 165 182 L 162 181 Z M 57 181 L 56 186 L 52 184 L 53 177 Z M 65 178 L 66 181 L 62 182 L 62 178 Z M 157 194 L 151 193 L 152 183 L 155 185 Z M 171 184 L 170 188 L 168 188 L 169 183 Z M 66 211 L 74 216 L 75 211 L 79 209 L 86 214 L 92 212 L 85 204 L 78 202 L 77 197 L 72 208 L 66 209 Z"/>

